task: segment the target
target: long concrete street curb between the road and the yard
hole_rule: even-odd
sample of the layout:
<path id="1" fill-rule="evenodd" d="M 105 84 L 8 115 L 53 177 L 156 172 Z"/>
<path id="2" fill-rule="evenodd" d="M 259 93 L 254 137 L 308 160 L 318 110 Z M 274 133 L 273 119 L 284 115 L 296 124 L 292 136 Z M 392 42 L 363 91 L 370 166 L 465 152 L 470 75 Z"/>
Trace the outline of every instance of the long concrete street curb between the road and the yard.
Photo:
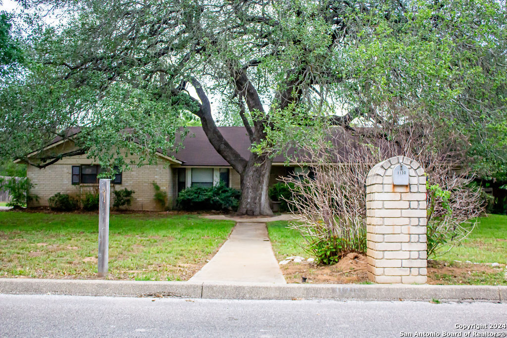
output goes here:
<path id="1" fill-rule="evenodd" d="M 485 301 L 507 303 L 507 286 L 363 284 L 216 284 L 0 278 L 0 293 L 211 299 L 335 299 L 340 301 Z"/>

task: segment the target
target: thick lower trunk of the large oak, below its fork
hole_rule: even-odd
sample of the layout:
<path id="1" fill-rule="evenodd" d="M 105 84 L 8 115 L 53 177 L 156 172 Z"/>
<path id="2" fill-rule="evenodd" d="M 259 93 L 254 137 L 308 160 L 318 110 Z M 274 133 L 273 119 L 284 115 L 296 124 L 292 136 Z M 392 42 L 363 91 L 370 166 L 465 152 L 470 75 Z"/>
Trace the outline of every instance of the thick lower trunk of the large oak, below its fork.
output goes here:
<path id="1" fill-rule="evenodd" d="M 238 214 L 259 216 L 273 215 L 269 207 L 268 183 L 271 163 L 267 156 L 251 154 L 248 163 L 241 173 L 241 199 Z"/>

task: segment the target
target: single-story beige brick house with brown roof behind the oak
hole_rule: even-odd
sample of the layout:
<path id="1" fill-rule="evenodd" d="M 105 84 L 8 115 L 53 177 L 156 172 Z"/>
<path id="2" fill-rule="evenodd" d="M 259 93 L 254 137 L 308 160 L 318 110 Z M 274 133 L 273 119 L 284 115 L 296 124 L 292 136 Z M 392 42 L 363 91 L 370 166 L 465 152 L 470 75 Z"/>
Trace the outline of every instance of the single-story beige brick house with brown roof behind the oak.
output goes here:
<path id="1" fill-rule="evenodd" d="M 130 209 L 160 210 L 154 200 L 156 182 L 167 193 L 169 207 L 174 208 L 177 194 L 190 186 L 212 186 L 220 180 L 228 186 L 240 189 L 240 175 L 215 151 L 201 127 L 189 127 L 189 134 L 183 141 L 183 147 L 174 154 L 157 153 L 160 161 L 157 165 L 131 166 L 131 170 L 120 173 L 112 181 L 112 190 L 133 190 Z M 219 127 L 225 139 L 244 158 L 249 156 L 250 140 L 244 127 Z M 44 151 L 66 153 L 74 146 L 73 141 L 55 140 Z M 21 161 L 18 161 L 21 162 Z M 285 158 L 274 158 L 270 182 L 276 183 L 280 176 L 301 170 L 292 164 L 286 166 Z M 44 169 L 27 166 L 26 176 L 35 184 L 32 193 L 39 197 L 29 207 L 48 206 L 48 199 L 56 193 L 69 194 L 81 199 L 87 192 L 98 190 L 97 174 L 99 166 L 86 155 L 65 157 Z"/>

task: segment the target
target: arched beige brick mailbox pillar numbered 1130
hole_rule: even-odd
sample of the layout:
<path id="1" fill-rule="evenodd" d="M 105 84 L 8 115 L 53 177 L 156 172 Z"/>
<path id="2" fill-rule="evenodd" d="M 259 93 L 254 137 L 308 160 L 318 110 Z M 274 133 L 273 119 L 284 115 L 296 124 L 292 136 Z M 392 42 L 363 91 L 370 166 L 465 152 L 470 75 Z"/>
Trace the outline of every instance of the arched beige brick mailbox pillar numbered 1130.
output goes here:
<path id="1" fill-rule="evenodd" d="M 368 278 L 376 283 L 426 283 L 426 176 L 396 156 L 366 179 Z"/>

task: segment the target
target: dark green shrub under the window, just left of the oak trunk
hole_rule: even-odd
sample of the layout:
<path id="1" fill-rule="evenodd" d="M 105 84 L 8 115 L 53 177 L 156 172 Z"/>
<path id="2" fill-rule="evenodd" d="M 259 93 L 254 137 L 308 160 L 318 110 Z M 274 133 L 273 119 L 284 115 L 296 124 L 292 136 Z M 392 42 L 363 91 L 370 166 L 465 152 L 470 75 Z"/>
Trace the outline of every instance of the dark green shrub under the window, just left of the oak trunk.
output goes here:
<path id="1" fill-rule="evenodd" d="M 220 182 L 213 187 L 193 186 L 178 194 L 176 203 L 182 210 L 236 210 L 241 192 Z"/>

